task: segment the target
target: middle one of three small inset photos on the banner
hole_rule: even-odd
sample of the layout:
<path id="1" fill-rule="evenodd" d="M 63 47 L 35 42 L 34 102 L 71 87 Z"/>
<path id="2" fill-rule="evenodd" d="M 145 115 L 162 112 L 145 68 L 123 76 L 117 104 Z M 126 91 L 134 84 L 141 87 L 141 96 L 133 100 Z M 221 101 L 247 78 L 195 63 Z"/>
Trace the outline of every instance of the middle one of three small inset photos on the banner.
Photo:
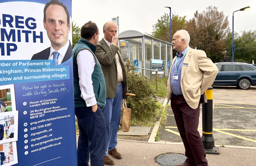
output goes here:
<path id="1" fill-rule="evenodd" d="M 0 113 L 0 144 L 18 140 L 18 111 Z"/>

